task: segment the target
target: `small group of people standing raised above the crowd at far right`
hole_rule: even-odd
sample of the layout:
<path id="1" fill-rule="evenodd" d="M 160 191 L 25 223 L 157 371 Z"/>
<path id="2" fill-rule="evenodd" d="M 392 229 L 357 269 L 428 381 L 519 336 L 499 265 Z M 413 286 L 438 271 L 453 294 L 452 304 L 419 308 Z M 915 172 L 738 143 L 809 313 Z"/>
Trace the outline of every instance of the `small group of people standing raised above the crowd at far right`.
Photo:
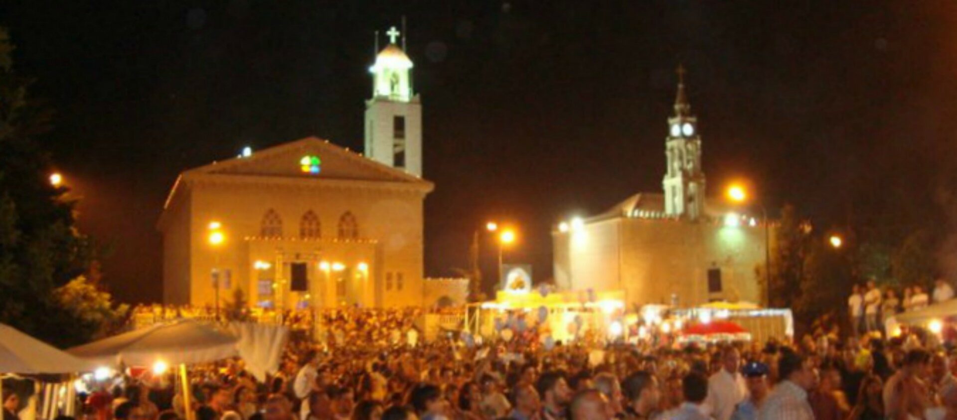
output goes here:
<path id="1" fill-rule="evenodd" d="M 930 304 L 949 301 L 954 298 L 954 289 L 939 279 L 934 282 L 930 296 L 920 285 L 904 287 L 902 296 L 899 296 L 893 287 L 881 290 L 873 280 L 867 284 L 855 284 L 847 301 L 851 332 L 855 336 L 873 332 L 883 334 L 888 318 L 902 311 L 924 309 Z"/>

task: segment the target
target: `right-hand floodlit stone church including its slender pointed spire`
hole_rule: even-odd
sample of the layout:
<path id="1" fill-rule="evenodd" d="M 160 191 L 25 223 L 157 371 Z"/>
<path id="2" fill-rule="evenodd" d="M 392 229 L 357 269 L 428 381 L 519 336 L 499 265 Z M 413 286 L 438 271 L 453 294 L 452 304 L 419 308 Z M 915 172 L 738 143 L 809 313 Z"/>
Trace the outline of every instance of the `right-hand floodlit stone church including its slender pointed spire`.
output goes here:
<path id="1" fill-rule="evenodd" d="M 759 279 L 773 234 L 762 218 L 706 196 L 698 119 L 681 68 L 664 146 L 663 194 L 637 193 L 604 213 L 555 226 L 556 285 L 622 291 L 628 305 L 762 302 Z"/>

